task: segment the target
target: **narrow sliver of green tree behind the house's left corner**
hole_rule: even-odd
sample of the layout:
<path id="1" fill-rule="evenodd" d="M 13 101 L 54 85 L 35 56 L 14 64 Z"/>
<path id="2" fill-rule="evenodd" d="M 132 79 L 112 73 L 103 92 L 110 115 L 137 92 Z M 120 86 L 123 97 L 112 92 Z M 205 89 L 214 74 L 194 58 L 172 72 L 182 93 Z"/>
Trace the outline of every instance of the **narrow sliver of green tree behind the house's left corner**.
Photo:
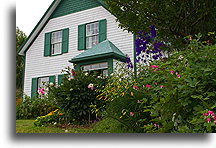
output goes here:
<path id="1" fill-rule="evenodd" d="M 18 55 L 19 48 L 26 40 L 26 34 L 16 27 L 16 88 L 22 88 L 22 77 L 23 77 L 23 69 L 24 69 L 24 60 L 23 57 Z"/>

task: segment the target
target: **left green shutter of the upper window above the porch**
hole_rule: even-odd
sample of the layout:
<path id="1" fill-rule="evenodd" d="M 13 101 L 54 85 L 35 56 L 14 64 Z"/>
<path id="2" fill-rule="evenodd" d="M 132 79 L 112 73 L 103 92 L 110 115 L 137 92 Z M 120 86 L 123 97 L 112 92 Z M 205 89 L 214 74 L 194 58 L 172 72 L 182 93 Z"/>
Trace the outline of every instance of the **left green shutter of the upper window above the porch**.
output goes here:
<path id="1" fill-rule="evenodd" d="M 78 50 L 86 48 L 86 25 L 78 26 Z"/>

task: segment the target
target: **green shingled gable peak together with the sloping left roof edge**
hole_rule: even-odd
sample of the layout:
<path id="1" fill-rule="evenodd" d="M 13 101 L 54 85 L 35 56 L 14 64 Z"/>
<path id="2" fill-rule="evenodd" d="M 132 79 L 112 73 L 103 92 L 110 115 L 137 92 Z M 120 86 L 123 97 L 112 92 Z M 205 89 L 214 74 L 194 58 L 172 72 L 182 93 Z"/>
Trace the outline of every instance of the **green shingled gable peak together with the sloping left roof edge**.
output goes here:
<path id="1" fill-rule="evenodd" d="M 98 6 L 106 8 L 103 0 L 54 0 L 31 34 L 28 36 L 27 40 L 20 47 L 18 51 L 19 55 L 25 56 L 25 53 L 29 47 L 50 19 Z"/>

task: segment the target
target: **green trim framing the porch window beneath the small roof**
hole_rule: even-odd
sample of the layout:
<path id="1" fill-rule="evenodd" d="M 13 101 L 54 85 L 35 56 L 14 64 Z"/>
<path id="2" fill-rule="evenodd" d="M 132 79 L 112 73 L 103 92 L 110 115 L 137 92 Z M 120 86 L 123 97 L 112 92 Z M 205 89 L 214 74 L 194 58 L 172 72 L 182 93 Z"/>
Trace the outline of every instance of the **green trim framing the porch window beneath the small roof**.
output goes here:
<path id="1" fill-rule="evenodd" d="M 110 76 L 110 74 L 113 72 L 113 58 L 96 59 L 96 60 L 92 60 L 92 61 L 80 62 L 80 63 L 76 64 L 76 70 L 80 71 L 81 70 L 81 66 L 83 66 L 83 65 L 103 63 L 103 62 L 107 62 L 108 63 L 108 75 Z"/>

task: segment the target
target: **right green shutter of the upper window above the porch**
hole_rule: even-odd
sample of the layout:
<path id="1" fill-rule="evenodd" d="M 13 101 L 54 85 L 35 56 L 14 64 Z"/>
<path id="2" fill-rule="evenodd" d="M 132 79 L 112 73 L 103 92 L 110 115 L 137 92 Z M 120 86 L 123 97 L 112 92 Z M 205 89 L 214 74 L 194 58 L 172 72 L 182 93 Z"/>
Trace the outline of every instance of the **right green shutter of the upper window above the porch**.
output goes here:
<path id="1" fill-rule="evenodd" d="M 107 38 L 107 20 L 99 21 L 99 43 Z"/>

